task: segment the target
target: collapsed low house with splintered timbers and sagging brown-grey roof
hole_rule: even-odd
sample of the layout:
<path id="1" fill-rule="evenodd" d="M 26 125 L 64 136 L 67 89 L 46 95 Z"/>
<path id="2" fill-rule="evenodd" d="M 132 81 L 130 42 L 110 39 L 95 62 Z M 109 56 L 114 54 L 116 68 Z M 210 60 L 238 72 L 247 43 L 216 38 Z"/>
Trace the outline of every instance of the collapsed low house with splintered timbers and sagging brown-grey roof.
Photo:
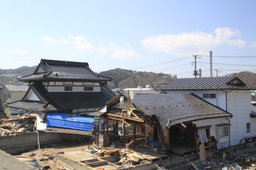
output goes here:
<path id="1" fill-rule="evenodd" d="M 217 127 L 229 125 L 228 118 L 232 118 L 195 94 L 128 96 L 115 96 L 102 111 L 107 120 L 101 133 L 106 146 L 120 139 L 142 139 L 158 150 L 178 155 L 198 152 L 200 146 L 216 149 Z M 108 125 L 112 129 L 106 128 Z"/>

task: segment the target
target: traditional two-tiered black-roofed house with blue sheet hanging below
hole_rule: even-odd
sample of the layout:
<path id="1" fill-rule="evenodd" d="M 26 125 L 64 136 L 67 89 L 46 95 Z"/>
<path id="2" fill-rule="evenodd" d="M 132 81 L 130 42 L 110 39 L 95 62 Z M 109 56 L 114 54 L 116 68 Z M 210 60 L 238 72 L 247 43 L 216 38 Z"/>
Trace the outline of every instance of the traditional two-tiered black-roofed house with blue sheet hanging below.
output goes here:
<path id="1" fill-rule="evenodd" d="M 41 59 L 35 72 L 18 78 L 29 84 L 24 97 L 6 107 L 38 113 L 37 128 L 56 133 L 88 134 L 94 118 L 88 113 L 115 96 L 107 82 L 86 62 Z"/>

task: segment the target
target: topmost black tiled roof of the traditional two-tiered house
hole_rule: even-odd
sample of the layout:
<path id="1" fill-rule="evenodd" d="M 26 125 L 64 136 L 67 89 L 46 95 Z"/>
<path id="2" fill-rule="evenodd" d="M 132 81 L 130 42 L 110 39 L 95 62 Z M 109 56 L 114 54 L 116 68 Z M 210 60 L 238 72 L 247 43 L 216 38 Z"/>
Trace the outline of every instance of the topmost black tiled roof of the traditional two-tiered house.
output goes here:
<path id="1" fill-rule="evenodd" d="M 89 82 L 112 81 L 112 78 L 94 73 L 87 62 L 57 61 L 49 59 L 41 59 L 33 74 L 23 76 L 18 79 L 26 82 L 32 82 L 35 80 L 76 80 Z"/>

